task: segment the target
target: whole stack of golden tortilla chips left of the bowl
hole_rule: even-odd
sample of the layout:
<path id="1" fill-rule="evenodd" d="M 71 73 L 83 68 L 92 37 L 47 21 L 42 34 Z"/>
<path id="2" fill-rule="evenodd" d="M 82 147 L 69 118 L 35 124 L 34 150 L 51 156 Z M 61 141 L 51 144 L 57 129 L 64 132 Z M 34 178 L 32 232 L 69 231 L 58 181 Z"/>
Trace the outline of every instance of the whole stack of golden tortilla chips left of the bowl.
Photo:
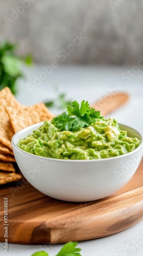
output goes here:
<path id="1" fill-rule="evenodd" d="M 23 106 L 16 101 L 9 88 L 0 91 L 0 184 L 21 179 L 12 164 L 15 162 L 11 145 L 14 133 L 52 118 L 53 114 L 43 103 Z"/>

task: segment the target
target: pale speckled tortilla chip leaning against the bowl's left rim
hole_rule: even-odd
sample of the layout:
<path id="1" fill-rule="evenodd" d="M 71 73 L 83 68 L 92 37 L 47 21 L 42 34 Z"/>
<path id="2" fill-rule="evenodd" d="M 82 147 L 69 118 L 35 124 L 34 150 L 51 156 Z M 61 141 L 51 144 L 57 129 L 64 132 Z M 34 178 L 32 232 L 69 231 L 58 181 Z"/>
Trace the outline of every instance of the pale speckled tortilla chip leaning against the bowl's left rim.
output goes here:
<path id="1" fill-rule="evenodd" d="M 43 103 L 25 108 L 6 108 L 14 133 L 35 123 L 51 120 L 54 116 Z"/>

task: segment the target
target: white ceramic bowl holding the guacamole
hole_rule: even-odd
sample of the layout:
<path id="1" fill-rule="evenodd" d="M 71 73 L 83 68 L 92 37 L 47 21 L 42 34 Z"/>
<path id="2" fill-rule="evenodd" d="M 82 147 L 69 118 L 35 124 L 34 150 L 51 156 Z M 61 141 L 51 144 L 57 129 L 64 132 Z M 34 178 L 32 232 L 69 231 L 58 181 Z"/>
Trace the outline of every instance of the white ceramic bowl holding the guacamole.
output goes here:
<path id="1" fill-rule="evenodd" d="M 97 160 L 61 160 L 39 157 L 22 151 L 19 139 L 32 134 L 43 122 L 31 125 L 12 138 L 16 162 L 23 176 L 43 194 L 71 202 L 86 202 L 107 197 L 132 178 L 142 158 L 142 135 L 120 124 L 140 145 L 122 156 Z"/>

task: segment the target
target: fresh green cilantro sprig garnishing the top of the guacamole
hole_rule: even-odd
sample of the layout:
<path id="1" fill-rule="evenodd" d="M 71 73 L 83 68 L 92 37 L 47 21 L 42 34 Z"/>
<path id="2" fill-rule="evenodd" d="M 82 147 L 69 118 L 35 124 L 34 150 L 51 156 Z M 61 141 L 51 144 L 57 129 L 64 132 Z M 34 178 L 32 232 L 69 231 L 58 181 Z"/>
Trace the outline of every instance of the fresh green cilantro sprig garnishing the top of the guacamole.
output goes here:
<path id="1" fill-rule="evenodd" d="M 78 131 L 82 127 L 88 127 L 96 121 L 96 118 L 103 118 L 100 111 L 90 108 L 88 101 L 83 100 L 81 105 L 75 100 L 71 106 L 67 106 L 67 112 L 53 118 L 53 123 L 60 131 Z"/>

